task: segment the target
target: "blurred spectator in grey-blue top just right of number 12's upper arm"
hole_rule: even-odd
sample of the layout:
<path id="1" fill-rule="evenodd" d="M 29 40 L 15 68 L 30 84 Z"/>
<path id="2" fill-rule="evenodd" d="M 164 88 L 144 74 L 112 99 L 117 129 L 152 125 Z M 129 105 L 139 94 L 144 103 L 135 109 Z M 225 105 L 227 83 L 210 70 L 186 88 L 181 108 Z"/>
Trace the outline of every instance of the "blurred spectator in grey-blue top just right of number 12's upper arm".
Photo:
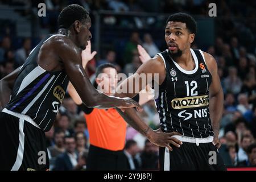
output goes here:
<path id="1" fill-rule="evenodd" d="M 242 87 L 242 81 L 237 76 L 237 68 L 230 67 L 229 68 L 229 75 L 224 79 L 224 86 L 225 89 L 229 92 L 234 94 L 238 94 Z"/>

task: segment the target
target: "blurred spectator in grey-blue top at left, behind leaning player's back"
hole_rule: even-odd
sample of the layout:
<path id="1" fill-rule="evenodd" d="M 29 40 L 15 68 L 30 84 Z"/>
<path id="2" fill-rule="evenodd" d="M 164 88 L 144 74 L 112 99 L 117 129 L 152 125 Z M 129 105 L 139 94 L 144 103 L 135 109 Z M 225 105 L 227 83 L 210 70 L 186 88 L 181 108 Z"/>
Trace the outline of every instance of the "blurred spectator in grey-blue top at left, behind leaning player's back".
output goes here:
<path id="1" fill-rule="evenodd" d="M 19 48 L 15 52 L 15 64 L 16 64 L 16 67 L 19 67 L 19 66 L 24 64 L 24 62 L 26 61 L 28 55 L 30 54 L 30 51 L 31 51 L 30 48 L 31 48 L 31 40 L 30 40 L 30 38 L 24 39 L 22 48 Z"/>

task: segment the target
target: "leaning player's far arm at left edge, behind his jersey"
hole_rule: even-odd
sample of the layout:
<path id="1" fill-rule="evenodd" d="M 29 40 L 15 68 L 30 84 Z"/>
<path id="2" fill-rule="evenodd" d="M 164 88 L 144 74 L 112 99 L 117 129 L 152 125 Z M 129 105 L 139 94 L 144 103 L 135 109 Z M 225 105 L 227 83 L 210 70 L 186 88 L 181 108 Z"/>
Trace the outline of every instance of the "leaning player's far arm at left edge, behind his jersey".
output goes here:
<path id="1" fill-rule="evenodd" d="M 13 90 L 14 82 L 18 76 L 20 68 L 21 67 L 15 69 L 15 71 L 0 80 L 0 111 L 10 100 L 11 90 Z"/>

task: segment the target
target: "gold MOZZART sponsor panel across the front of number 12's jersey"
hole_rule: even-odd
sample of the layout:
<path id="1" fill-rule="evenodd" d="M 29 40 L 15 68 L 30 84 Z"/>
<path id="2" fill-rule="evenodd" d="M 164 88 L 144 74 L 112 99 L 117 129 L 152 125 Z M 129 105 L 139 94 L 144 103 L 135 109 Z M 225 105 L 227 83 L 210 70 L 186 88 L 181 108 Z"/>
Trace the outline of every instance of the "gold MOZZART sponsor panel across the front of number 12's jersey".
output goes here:
<path id="1" fill-rule="evenodd" d="M 203 107 L 209 105 L 208 95 L 204 96 L 191 96 L 183 98 L 174 98 L 171 101 L 172 108 L 174 109 L 184 109 L 193 107 Z"/>

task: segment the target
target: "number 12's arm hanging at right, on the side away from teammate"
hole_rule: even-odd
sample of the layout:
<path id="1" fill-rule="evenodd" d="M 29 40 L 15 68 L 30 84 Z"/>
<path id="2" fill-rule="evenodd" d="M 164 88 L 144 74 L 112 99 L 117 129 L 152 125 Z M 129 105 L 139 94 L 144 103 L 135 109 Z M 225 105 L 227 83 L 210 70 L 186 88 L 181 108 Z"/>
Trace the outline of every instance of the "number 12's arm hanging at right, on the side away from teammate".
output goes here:
<path id="1" fill-rule="evenodd" d="M 220 130 L 220 121 L 223 113 L 224 94 L 221 87 L 220 77 L 218 77 L 218 68 L 216 60 L 212 55 L 205 52 L 204 57 L 210 74 L 212 75 L 212 84 L 210 84 L 209 87 L 209 110 L 210 119 L 212 121 L 212 129 L 214 132 L 213 144 L 217 148 L 220 148 L 221 143 L 218 140 L 218 133 Z"/>

